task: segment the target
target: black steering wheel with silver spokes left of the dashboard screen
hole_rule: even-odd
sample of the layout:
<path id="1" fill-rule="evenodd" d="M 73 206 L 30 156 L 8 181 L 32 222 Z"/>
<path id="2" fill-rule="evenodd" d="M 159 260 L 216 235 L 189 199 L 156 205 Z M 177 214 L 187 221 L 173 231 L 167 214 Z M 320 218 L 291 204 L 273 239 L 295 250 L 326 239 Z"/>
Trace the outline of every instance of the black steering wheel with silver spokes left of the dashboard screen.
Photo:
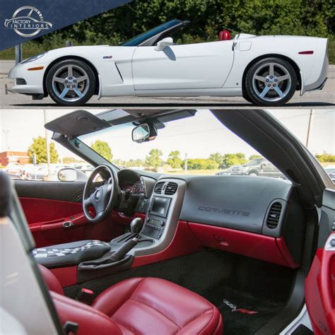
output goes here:
<path id="1" fill-rule="evenodd" d="M 93 180 L 98 174 L 106 175 L 106 172 L 110 177 L 100 187 L 96 187 L 94 192 L 90 194 L 90 190 L 93 188 Z M 117 172 L 108 165 L 99 165 L 95 167 L 92 174 L 88 178 L 85 184 L 83 192 L 83 213 L 86 219 L 91 223 L 98 223 L 110 214 L 112 208 L 117 205 L 119 196 L 119 180 L 117 178 Z M 95 217 L 90 216 L 88 208 L 93 206 L 95 209 Z"/>

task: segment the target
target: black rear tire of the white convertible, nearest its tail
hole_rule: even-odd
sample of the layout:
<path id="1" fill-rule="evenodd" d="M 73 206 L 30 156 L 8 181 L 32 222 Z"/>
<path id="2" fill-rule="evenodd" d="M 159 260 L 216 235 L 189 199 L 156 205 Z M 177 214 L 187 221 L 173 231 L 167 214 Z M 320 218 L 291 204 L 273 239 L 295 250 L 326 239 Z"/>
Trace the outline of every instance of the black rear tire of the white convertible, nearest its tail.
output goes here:
<path id="1" fill-rule="evenodd" d="M 274 76 L 270 76 L 271 64 L 274 64 Z M 254 76 L 264 78 L 264 82 L 254 79 Z M 278 78 L 284 78 L 286 76 L 288 76 L 287 79 L 278 81 Z M 266 86 L 269 88 L 266 88 Z M 269 57 L 256 61 L 249 68 L 247 76 L 245 76 L 244 90 L 246 96 L 248 96 L 255 105 L 269 107 L 282 106 L 293 97 L 296 88 L 297 75 L 295 74 L 293 66 L 291 66 L 288 61 L 277 57 Z M 278 89 L 280 90 L 279 93 L 283 95 L 282 97 L 277 93 L 276 90 Z M 264 97 L 261 97 L 261 93 L 265 91 L 266 94 Z"/>

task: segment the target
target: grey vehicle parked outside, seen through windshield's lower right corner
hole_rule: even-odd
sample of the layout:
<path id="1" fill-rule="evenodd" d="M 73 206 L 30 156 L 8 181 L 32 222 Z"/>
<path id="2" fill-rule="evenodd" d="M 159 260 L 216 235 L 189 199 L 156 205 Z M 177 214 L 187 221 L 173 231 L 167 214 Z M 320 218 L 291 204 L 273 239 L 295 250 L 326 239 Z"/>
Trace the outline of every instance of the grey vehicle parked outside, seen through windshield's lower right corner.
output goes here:
<path id="1" fill-rule="evenodd" d="M 232 166 L 231 175 L 263 176 L 286 179 L 283 173 L 265 158 L 254 158 L 248 163 Z"/>

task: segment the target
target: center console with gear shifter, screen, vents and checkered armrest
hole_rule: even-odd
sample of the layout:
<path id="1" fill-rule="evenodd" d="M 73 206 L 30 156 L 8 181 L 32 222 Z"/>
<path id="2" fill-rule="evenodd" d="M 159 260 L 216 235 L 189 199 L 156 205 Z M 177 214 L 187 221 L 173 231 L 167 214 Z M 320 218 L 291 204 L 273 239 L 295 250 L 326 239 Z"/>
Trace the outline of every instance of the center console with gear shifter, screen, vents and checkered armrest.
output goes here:
<path id="1" fill-rule="evenodd" d="M 76 266 L 83 283 L 131 267 L 134 257 L 156 254 L 173 240 L 182 209 L 186 182 L 164 178 L 155 183 L 144 221 L 134 218 L 129 233 L 110 242 L 78 241 L 35 249 L 35 259 L 50 269 Z"/>

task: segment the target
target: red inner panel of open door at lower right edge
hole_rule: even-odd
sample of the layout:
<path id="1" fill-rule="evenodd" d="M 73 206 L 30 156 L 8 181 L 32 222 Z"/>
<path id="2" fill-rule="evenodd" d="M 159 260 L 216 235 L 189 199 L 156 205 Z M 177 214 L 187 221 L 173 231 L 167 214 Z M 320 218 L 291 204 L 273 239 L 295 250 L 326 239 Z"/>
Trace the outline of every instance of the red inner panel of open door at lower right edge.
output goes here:
<path id="1" fill-rule="evenodd" d="M 315 334 L 335 334 L 335 234 L 317 254 L 305 281 L 305 300 Z"/>

